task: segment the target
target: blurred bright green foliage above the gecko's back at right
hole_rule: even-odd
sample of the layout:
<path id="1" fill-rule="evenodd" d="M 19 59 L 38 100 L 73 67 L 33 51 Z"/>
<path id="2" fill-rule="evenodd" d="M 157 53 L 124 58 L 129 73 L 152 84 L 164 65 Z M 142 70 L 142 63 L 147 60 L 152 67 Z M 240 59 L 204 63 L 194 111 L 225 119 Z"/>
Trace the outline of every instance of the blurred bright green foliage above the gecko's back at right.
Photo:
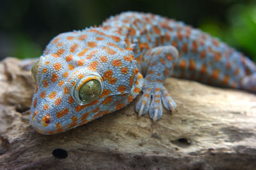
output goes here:
<path id="1" fill-rule="evenodd" d="M 256 61 L 256 4 L 230 6 L 227 20 L 228 24 L 223 25 L 218 20 L 205 18 L 200 28 L 237 50 L 246 52 L 246 55 Z"/>

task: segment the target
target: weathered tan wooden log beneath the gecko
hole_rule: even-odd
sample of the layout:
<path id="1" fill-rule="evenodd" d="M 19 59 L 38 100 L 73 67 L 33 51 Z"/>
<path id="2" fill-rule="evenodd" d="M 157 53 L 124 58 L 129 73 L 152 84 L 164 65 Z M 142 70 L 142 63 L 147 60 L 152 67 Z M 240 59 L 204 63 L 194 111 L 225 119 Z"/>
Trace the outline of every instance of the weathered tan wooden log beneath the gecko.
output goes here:
<path id="1" fill-rule="evenodd" d="M 161 120 L 134 106 L 60 134 L 29 124 L 30 72 L 0 63 L 0 169 L 256 169 L 256 96 L 168 78 L 177 103 Z"/>

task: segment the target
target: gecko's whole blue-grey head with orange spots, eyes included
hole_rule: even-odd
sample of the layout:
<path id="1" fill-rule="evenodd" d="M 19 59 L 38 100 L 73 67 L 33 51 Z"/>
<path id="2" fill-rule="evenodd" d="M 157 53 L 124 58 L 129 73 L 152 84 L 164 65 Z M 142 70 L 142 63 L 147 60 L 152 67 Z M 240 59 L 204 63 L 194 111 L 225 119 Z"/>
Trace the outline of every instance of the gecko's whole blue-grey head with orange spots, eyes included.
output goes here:
<path id="1" fill-rule="evenodd" d="M 32 68 L 37 88 L 30 122 L 42 134 L 64 132 L 119 110 L 140 92 L 136 60 L 125 43 L 115 44 L 111 36 L 95 31 L 61 34 L 56 39 L 81 37 L 76 50 L 78 42 L 65 40 L 65 48 L 56 48 L 53 39 L 47 46 L 51 51 Z M 106 42 L 96 43 L 90 37 L 104 37 Z M 64 52 L 66 48 L 70 50 Z"/>

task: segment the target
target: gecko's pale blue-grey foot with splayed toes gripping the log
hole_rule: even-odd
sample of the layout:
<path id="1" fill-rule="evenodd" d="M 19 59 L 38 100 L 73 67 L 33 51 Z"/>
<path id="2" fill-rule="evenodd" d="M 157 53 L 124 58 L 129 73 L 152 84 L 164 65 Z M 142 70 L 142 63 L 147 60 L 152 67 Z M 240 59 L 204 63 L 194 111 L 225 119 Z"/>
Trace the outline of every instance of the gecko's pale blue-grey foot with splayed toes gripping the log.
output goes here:
<path id="1" fill-rule="evenodd" d="M 142 92 L 143 96 L 135 108 L 140 117 L 148 112 L 154 121 L 159 120 L 163 115 L 162 103 L 167 110 L 175 110 L 176 103 L 162 83 L 145 80 Z"/>

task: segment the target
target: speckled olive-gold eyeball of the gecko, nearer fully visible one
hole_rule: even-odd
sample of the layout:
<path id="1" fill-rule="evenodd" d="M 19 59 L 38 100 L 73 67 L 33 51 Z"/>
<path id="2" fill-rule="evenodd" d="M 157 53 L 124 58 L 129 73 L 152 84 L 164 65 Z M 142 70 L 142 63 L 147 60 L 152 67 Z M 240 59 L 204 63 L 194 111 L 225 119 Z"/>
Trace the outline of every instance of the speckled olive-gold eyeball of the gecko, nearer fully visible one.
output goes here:
<path id="1" fill-rule="evenodd" d="M 90 80 L 84 83 L 79 90 L 79 98 L 86 103 L 92 103 L 99 99 L 101 94 L 100 82 L 97 80 Z"/>

